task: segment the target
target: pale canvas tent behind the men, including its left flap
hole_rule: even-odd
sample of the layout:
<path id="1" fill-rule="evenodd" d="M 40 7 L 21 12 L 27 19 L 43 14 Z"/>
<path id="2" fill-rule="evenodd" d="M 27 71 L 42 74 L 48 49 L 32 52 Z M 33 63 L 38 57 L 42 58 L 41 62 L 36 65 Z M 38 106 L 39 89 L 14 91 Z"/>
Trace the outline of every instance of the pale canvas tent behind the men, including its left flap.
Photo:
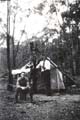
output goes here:
<path id="1" fill-rule="evenodd" d="M 64 90 L 65 89 L 65 85 L 63 82 L 63 74 L 62 72 L 57 68 L 57 65 L 50 59 L 47 58 L 47 60 L 50 62 L 51 65 L 51 69 L 50 69 L 50 84 L 51 84 L 51 90 L 52 91 L 59 91 L 59 90 Z M 18 75 L 21 72 L 25 72 L 27 74 L 30 73 L 30 65 L 29 63 L 27 63 L 25 66 L 23 66 L 20 69 L 15 69 L 12 70 L 12 75 Z M 42 91 L 45 92 L 46 89 L 46 85 L 45 85 L 45 81 L 43 79 L 41 79 L 41 72 L 40 69 L 36 69 L 36 82 L 34 81 L 34 88 L 36 89 L 36 91 Z"/>

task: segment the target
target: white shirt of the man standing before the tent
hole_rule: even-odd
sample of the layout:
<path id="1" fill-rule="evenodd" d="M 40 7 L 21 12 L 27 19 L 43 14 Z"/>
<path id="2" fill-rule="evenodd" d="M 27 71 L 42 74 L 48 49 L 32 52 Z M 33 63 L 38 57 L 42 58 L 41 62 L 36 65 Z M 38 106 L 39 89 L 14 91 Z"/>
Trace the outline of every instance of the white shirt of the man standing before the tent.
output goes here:
<path id="1" fill-rule="evenodd" d="M 50 70 L 50 62 L 48 60 L 45 61 L 40 61 L 40 63 L 37 65 L 37 68 L 41 67 L 41 71 L 45 71 L 45 70 Z"/>

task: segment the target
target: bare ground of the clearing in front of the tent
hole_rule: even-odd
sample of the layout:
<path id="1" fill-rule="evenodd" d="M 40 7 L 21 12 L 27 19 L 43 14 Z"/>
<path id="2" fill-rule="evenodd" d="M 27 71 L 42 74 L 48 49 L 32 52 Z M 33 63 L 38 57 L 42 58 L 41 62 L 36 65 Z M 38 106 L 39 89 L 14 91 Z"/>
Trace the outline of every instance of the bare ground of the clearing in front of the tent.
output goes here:
<path id="1" fill-rule="evenodd" d="M 7 82 L 0 80 L 0 120 L 80 120 L 80 95 L 29 96 L 26 102 L 15 103 L 15 92 L 6 89 Z"/>

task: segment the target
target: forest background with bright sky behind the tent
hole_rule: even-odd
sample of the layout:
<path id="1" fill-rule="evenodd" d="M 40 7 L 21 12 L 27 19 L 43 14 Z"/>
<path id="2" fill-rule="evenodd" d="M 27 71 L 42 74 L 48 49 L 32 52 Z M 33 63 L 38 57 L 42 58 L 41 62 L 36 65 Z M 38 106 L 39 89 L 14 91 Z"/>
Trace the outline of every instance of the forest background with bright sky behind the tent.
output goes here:
<path id="1" fill-rule="evenodd" d="M 44 54 L 72 75 L 80 74 L 80 2 L 11 0 L 9 2 L 11 69 Z M 0 1 L 0 72 L 7 72 L 7 1 Z"/>

